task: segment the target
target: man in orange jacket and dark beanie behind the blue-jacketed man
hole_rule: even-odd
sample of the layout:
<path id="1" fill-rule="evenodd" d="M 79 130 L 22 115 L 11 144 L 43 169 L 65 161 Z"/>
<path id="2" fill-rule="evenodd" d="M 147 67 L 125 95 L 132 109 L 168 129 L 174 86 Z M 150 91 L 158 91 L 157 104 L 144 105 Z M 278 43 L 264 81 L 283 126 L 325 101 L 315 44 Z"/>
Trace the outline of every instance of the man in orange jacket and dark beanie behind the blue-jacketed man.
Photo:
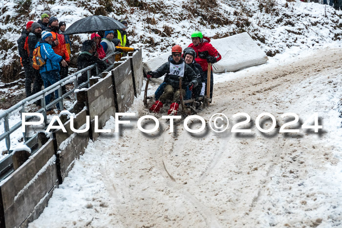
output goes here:
<path id="1" fill-rule="evenodd" d="M 58 33 L 59 26 L 58 26 L 58 19 L 56 17 L 51 17 L 48 24 L 48 29 L 46 31 L 51 32 L 52 34 L 52 49 L 57 55 L 62 56 L 62 58 L 69 64 L 70 57 L 68 50 L 65 45 L 64 35 Z M 68 65 L 65 67 L 60 64 L 60 76 L 61 79 L 64 79 L 68 76 Z M 62 86 L 62 93 L 66 93 L 65 85 Z"/>

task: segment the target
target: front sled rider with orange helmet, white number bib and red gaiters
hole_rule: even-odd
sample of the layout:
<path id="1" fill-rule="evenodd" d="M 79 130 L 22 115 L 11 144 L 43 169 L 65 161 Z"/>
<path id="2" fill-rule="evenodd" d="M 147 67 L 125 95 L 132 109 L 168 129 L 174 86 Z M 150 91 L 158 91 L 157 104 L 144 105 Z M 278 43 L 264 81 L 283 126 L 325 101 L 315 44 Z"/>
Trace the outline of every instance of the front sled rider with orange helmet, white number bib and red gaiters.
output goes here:
<path id="1" fill-rule="evenodd" d="M 160 96 L 159 100 L 155 101 L 150 107 L 152 112 L 159 112 L 160 108 L 163 107 L 163 103 L 172 100 L 168 115 L 177 115 L 180 103 L 180 89 L 182 89 L 182 94 L 185 94 L 186 86 L 192 88 L 197 85 L 195 72 L 188 64 L 185 64 L 181 55 L 182 47 L 174 45 L 172 47 L 172 56 L 169 57 L 169 62 L 161 65 L 156 71 L 147 72 L 148 78 L 160 78 L 166 74 L 164 78 L 164 83 L 166 83 L 164 93 Z M 182 78 L 182 88 L 179 88 L 180 78 Z"/>

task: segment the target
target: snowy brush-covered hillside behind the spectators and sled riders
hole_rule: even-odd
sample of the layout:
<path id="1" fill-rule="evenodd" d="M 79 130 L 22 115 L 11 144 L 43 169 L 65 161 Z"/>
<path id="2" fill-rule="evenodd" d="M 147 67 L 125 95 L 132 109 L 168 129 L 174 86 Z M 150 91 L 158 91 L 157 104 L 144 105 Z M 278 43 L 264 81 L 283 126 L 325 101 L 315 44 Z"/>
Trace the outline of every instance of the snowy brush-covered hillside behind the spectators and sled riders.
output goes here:
<path id="1" fill-rule="evenodd" d="M 93 14 L 129 21 L 128 33 L 135 47 L 150 59 L 170 51 L 173 44 L 189 44 L 191 32 L 222 38 L 247 31 L 273 56 L 288 47 L 307 49 L 340 40 L 341 12 L 330 6 L 286 0 L 0 0 L 1 80 L 13 81 L 20 72 L 16 41 L 30 19 L 37 21 L 49 9 L 60 21 L 71 23 Z M 81 40 L 78 39 L 81 38 Z M 73 38 L 73 51 L 87 39 Z"/>

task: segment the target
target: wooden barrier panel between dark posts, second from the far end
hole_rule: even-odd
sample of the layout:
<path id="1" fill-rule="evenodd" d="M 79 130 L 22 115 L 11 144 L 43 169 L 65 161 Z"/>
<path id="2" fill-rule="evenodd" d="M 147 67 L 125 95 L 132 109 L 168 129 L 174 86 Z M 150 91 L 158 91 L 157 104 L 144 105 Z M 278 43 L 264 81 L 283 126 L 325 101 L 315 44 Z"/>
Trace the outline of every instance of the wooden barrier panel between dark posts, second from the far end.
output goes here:
<path id="1" fill-rule="evenodd" d="M 116 104 L 118 112 L 126 112 L 134 101 L 134 89 L 130 60 L 126 60 L 112 70 L 115 84 Z"/>

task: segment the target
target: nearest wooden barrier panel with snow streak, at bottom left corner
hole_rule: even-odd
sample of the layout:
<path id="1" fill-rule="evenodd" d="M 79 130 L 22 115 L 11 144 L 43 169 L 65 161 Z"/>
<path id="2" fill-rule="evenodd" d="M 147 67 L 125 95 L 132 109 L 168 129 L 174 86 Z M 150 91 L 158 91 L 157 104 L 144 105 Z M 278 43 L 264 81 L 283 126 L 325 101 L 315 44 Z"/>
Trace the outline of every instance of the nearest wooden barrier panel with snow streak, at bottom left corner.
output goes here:
<path id="1" fill-rule="evenodd" d="M 53 140 L 50 139 L 1 182 L 6 227 L 19 227 L 27 219 L 36 219 L 43 211 L 48 198 L 51 197 L 49 192 L 58 184 L 55 160 Z M 44 199 L 43 203 L 38 205 L 41 199 Z"/>

